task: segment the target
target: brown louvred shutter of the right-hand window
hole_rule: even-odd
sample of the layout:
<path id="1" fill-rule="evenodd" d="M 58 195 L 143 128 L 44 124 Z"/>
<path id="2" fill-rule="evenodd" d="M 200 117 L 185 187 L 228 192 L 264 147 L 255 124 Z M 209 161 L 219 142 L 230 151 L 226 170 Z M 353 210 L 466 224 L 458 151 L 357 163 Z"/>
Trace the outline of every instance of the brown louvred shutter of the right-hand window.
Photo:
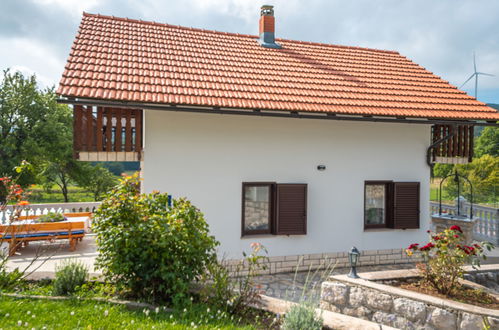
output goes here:
<path id="1" fill-rule="evenodd" d="M 393 184 L 393 228 L 419 228 L 419 182 Z"/>

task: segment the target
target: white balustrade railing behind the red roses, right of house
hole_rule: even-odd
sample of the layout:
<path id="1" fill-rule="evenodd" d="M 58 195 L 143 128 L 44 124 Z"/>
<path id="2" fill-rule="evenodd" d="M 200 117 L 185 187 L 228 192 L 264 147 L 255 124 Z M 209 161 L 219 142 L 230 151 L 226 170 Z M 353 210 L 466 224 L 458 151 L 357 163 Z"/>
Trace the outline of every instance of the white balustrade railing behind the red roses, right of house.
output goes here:
<path id="1" fill-rule="evenodd" d="M 438 202 L 430 202 L 430 210 L 432 214 L 438 214 Z M 457 207 L 455 205 L 442 204 L 442 213 L 455 215 Z M 460 213 L 469 216 L 470 204 L 465 203 Z M 473 219 L 475 219 L 473 239 L 477 241 L 489 241 L 494 245 L 499 245 L 499 209 L 473 205 Z"/>

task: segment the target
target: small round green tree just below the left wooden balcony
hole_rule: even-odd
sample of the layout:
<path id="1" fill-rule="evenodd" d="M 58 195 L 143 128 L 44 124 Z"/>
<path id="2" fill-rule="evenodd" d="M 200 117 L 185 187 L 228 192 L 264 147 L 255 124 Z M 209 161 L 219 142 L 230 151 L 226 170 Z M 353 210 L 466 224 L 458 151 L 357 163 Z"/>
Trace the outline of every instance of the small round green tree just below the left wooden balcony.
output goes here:
<path id="1" fill-rule="evenodd" d="M 85 175 L 79 183 L 80 186 L 92 192 L 95 201 L 101 200 L 103 195 L 117 184 L 118 178 L 101 165 L 88 165 L 85 169 Z"/>

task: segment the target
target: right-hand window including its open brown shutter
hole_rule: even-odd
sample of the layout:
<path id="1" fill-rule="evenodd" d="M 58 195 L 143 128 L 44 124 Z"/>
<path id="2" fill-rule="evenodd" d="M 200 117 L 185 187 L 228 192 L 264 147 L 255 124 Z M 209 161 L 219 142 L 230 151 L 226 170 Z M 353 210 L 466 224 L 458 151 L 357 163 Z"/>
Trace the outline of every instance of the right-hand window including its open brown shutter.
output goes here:
<path id="1" fill-rule="evenodd" d="M 419 228 L 419 182 L 366 181 L 364 228 Z"/>

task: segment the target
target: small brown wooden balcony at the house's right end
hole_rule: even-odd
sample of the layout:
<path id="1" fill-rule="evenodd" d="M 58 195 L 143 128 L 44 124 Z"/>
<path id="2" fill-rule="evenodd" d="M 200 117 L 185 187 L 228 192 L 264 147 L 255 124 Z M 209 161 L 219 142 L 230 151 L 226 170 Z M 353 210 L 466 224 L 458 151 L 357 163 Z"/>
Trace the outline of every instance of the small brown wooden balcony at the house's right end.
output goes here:
<path id="1" fill-rule="evenodd" d="M 432 162 L 441 164 L 465 164 L 473 160 L 473 126 L 433 125 L 432 143 L 453 135 L 433 148 Z"/>

